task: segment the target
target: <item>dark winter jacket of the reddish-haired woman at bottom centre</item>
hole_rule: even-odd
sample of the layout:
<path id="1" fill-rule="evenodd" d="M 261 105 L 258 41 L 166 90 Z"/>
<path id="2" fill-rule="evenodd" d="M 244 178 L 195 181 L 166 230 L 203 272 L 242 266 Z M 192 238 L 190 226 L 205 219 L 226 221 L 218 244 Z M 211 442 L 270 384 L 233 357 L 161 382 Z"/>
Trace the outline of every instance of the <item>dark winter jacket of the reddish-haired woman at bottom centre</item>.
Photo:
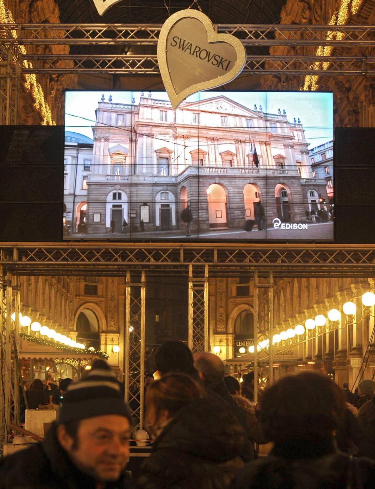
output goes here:
<path id="1" fill-rule="evenodd" d="M 248 460 L 248 441 L 229 410 L 212 400 L 182 408 L 155 440 L 140 489 L 226 489 Z"/>

